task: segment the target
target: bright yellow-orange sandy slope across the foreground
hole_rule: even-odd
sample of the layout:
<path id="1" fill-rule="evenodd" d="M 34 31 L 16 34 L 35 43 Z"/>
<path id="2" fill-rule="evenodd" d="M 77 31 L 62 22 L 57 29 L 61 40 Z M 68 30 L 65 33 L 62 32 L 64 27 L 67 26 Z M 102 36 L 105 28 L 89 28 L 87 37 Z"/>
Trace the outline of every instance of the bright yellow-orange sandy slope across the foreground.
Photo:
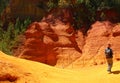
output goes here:
<path id="1" fill-rule="evenodd" d="M 0 80 L 5 74 L 8 78 L 0 83 L 119 83 L 120 62 L 115 62 L 113 73 L 106 72 L 106 65 L 67 70 L 51 67 L 38 62 L 28 61 L 5 55 L 0 52 Z"/>

